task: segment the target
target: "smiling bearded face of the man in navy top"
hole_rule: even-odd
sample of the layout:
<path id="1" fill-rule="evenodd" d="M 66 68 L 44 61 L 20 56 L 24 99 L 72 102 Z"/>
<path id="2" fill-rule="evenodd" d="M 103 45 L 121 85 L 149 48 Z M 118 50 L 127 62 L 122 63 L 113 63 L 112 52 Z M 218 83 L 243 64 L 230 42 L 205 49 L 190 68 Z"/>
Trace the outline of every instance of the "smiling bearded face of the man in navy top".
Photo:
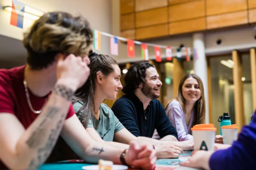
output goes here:
<path id="1" fill-rule="evenodd" d="M 146 81 L 140 88 L 142 93 L 151 100 L 159 98 L 162 82 L 159 80 L 156 68 L 149 67 L 146 70 Z"/>

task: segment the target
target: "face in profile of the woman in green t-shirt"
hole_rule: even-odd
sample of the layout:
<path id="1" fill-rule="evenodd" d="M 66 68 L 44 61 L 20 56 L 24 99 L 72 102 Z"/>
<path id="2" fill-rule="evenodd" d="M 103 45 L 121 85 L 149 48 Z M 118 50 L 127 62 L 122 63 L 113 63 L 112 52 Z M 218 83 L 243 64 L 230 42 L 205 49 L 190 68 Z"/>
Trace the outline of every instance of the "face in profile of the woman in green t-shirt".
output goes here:
<path id="1" fill-rule="evenodd" d="M 102 77 L 102 92 L 106 99 L 115 100 L 116 95 L 118 94 L 118 90 L 123 88 L 120 77 L 121 77 L 121 70 L 116 64 L 112 64 L 114 69 L 108 76 Z"/>

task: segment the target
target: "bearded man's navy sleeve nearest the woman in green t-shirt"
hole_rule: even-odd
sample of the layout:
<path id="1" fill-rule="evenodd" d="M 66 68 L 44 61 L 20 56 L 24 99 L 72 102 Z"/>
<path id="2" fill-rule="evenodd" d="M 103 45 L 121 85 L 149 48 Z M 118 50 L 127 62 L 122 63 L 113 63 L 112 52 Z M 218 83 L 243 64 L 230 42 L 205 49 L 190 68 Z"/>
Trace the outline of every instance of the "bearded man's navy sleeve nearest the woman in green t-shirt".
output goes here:
<path id="1" fill-rule="evenodd" d="M 111 109 L 130 133 L 136 137 L 140 136 L 140 130 L 135 121 L 135 108 L 132 102 L 128 99 L 120 98 L 114 103 Z"/>

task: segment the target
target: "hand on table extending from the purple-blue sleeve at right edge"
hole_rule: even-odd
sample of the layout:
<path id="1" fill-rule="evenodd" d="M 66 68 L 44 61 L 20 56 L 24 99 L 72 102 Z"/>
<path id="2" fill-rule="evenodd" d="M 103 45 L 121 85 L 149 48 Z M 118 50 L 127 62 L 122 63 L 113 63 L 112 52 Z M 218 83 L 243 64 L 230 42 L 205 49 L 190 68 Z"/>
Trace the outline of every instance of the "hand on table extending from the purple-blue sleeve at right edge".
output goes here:
<path id="1" fill-rule="evenodd" d="M 196 150 L 191 153 L 191 158 L 186 162 L 180 162 L 181 166 L 203 168 L 210 170 L 209 161 L 214 151 Z"/>

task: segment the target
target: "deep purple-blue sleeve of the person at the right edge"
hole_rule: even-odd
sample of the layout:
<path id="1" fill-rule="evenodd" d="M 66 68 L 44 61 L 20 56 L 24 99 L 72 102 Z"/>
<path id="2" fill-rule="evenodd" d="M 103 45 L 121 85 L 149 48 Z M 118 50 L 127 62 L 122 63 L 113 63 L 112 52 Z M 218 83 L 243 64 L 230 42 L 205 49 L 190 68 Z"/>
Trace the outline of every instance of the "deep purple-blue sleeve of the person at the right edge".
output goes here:
<path id="1" fill-rule="evenodd" d="M 211 170 L 255 169 L 256 123 L 244 126 L 232 147 L 214 152 L 210 158 Z"/>

